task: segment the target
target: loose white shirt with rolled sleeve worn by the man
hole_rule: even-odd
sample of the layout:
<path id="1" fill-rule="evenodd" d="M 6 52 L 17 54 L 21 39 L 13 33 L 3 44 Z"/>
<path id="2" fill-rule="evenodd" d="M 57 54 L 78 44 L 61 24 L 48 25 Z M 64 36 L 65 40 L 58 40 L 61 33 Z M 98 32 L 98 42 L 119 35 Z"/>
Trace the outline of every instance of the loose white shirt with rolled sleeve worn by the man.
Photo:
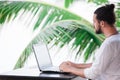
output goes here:
<path id="1" fill-rule="evenodd" d="M 120 80 L 120 33 L 105 39 L 84 74 L 92 80 Z"/>

